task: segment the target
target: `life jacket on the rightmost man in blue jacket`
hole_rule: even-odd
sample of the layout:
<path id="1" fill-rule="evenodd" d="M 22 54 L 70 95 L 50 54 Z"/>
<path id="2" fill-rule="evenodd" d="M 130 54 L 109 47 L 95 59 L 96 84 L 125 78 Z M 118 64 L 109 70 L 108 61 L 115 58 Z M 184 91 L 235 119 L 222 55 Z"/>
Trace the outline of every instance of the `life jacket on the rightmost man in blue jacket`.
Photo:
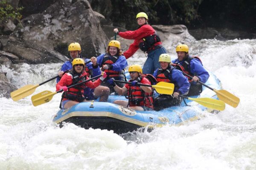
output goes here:
<path id="1" fill-rule="evenodd" d="M 197 56 L 194 56 L 194 57 L 190 57 L 188 56 L 184 62 L 182 63 L 182 65 L 178 64 L 178 62 L 175 62 L 175 64 L 172 64 L 175 68 L 177 68 L 178 70 L 182 71 L 183 73 L 186 73 L 186 74 L 189 74 L 189 76 L 196 76 L 195 74 L 192 74 L 190 72 L 190 62 L 191 62 L 191 59 L 198 59 L 201 63 L 201 59 Z M 203 64 L 203 63 L 202 63 Z M 186 76 L 187 77 L 187 76 Z M 190 77 L 187 77 L 189 79 L 189 82 L 192 82 L 192 79 Z"/>

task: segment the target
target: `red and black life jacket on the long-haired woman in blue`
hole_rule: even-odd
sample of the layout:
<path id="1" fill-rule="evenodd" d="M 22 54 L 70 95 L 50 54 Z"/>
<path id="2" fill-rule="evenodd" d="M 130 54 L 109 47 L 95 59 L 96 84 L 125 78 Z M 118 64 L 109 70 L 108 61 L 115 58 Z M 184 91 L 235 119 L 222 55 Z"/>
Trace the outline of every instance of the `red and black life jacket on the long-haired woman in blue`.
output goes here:
<path id="1" fill-rule="evenodd" d="M 109 57 L 109 54 L 106 53 L 102 59 L 102 71 L 104 71 L 108 77 L 112 78 L 112 77 L 119 77 L 119 71 L 113 71 L 113 70 L 105 70 L 103 69 L 104 65 L 108 64 L 108 65 L 112 65 L 113 63 L 115 63 L 117 61 L 117 59 L 119 59 L 120 56 L 112 56 L 111 58 Z"/>

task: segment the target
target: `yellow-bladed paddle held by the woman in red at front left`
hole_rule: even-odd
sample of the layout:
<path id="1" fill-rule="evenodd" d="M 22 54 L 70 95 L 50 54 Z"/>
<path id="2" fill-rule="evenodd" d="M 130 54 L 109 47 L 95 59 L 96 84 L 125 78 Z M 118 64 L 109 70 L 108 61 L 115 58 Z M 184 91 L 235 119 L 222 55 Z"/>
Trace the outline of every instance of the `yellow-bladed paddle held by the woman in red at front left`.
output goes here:
<path id="1" fill-rule="evenodd" d="M 93 80 L 93 79 L 96 79 L 96 78 L 98 78 L 98 77 L 101 77 L 101 76 L 102 76 L 102 74 L 100 74 L 100 75 L 98 75 L 98 76 L 96 76 L 96 77 L 93 77 L 93 78 L 84 80 L 83 82 L 76 83 L 75 85 L 70 85 L 70 86 L 67 87 L 67 88 L 72 88 L 72 87 L 74 87 L 74 86 L 76 86 L 76 85 L 80 85 L 80 84 L 83 84 L 83 83 L 85 83 L 85 82 L 89 82 L 89 81 L 91 81 L 91 80 Z M 44 104 L 44 103 L 47 103 L 47 102 L 51 101 L 52 97 L 53 97 L 55 94 L 60 93 L 60 92 L 62 92 L 62 91 L 63 91 L 62 89 L 59 90 L 59 91 L 55 91 L 55 92 L 43 91 L 43 92 L 38 93 L 38 94 L 36 94 L 36 95 L 34 95 L 34 96 L 31 97 L 32 103 L 33 103 L 34 106 L 42 105 L 42 104 Z"/>

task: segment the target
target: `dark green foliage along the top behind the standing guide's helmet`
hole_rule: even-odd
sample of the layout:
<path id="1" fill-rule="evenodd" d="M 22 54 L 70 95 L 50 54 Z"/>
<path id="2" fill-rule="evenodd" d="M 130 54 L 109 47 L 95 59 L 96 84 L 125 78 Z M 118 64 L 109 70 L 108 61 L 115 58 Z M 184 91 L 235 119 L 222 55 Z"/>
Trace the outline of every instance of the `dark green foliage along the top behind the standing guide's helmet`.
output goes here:
<path id="1" fill-rule="evenodd" d="M 203 0 L 93 0 L 91 6 L 114 26 L 136 29 L 136 15 L 139 12 L 148 14 L 152 24 L 186 24 L 198 20 L 199 5 Z"/>

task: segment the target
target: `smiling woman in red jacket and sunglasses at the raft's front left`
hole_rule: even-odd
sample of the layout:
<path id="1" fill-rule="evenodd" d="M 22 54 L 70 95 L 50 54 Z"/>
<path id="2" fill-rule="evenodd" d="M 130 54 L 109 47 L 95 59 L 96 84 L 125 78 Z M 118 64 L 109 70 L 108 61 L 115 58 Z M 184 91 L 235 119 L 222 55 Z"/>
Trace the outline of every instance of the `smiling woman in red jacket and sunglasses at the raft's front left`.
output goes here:
<path id="1" fill-rule="evenodd" d="M 79 102 L 87 102 L 84 96 L 84 89 L 88 88 L 96 88 L 100 85 L 100 83 L 107 77 L 107 74 L 104 73 L 102 77 L 97 79 L 95 82 L 89 81 L 85 82 L 81 85 L 74 86 L 73 88 L 67 88 L 67 86 L 77 84 L 86 79 L 87 73 L 84 71 L 84 60 L 81 58 L 76 58 L 72 62 L 73 69 L 68 73 L 65 73 L 61 80 L 56 85 L 56 91 L 63 90 L 61 102 L 62 108 L 67 109 L 76 105 Z M 105 91 L 99 91 L 98 93 L 94 92 L 94 98 L 100 97 L 100 102 L 106 102 L 108 100 L 109 91 L 106 93 Z"/>

